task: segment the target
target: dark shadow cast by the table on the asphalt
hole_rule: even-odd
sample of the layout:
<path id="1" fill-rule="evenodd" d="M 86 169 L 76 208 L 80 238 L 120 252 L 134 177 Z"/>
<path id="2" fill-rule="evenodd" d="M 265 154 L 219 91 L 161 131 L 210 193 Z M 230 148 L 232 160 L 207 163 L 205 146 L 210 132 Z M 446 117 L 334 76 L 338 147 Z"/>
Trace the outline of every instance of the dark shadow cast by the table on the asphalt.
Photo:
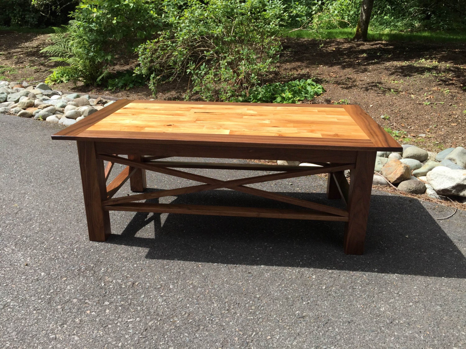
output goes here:
<path id="1" fill-rule="evenodd" d="M 281 194 L 339 202 L 319 193 Z M 180 195 L 171 203 L 296 208 L 226 190 Z M 150 259 L 466 278 L 465 256 L 417 200 L 402 196 L 372 195 L 364 255 L 344 255 L 343 222 L 163 215 L 135 213 L 107 242 L 148 248 Z M 147 225 L 154 227 L 151 236 L 139 236 Z"/>

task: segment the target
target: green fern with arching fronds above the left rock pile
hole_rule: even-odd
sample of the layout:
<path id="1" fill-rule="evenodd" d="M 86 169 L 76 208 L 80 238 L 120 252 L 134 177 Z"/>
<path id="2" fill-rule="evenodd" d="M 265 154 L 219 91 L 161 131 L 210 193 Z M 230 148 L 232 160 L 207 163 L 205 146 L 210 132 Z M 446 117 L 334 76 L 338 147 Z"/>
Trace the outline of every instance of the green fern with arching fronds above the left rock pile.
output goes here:
<path id="1" fill-rule="evenodd" d="M 70 81 L 82 81 L 84 84 L 99 83 L 107 76 L 106 66 L 110 63 L 111 55 L 106 54 L 103 45 L 92 40 L 82 26 L 70 21 L 68 26 L 54 27 L 54 30 L 55 33 L 50 34 L 53 44 L 41 50 L 41 53 L 50 56 L 51 61 L 67 64 L 55 68 L 54 72 L 66 76 Z M 50 76 L 49 80 L 52 78 Z"/>

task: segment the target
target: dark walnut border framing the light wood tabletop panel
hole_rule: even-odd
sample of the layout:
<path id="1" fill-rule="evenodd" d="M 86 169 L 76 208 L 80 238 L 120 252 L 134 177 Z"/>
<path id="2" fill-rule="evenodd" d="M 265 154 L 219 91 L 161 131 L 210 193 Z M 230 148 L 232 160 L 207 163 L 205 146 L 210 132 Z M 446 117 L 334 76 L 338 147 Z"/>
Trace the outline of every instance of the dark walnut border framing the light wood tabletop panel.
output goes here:
<path id="1" fill-rule="evenodd" d="M 286 107 L 310 108 L 340 108 L 344 109 L 356 124 L 368 136 L 369 140 L 358 139 L 330 139 L 310 137 L 280 137 L 280 136 L 250 136 L 230 134 L 181 134 L 161 132 L 126 132 L 126 131 L 90 131 L 92 125 L 115 113 L 122 107 L 137 103 L 153 104 L 199 104 L 199 105 L 242 105 L 251 106 L 252 103 L 229 102 L 185 102 L 185 101 L 133 101 L 119 100 L 112 103 L 87 118 L 75 123 L 52 135 L 54 140 L 72 141 L 111 141 L 121 143 L 151 143 L 151 144 L 184 144 L 209 146 L 237 146 L 237 147 L 282 147 L 322 150 L 366 150 L 366 151 L 402 151 L 401 146 L 390 134 L 381 128 L 377 122 L 363 111 L 358 105 L 320 105 L 320 104 L 287 104 Z M 259 104 L 259 103 L 258 103 Z M 260 103 L 260 106 L 273 106 L 277 104 Z"/>

